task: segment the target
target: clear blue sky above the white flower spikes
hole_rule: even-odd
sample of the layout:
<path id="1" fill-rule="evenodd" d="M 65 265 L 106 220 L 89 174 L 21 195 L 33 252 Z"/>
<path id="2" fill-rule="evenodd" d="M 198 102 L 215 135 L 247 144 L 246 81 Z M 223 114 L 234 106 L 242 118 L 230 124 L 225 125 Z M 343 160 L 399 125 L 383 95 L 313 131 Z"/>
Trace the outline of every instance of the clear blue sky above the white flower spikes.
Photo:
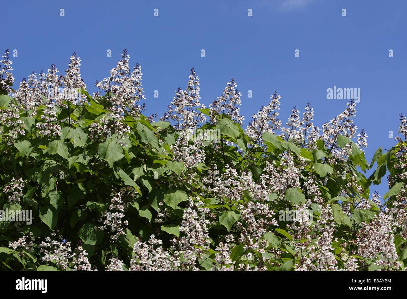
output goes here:
<path id="1" fill-rule="evenodd" d="M 109 74 L 127 48 L 131 66 L 142 67 L 146 115 L 162 115 L 176 89 L 185 89 L 192 67 L 207 106 L 235 78 L 245 124 L 277 91 L 283 123 L 293 106 L 302 112 L 311 103 L 314 123 L 321 126 L 348 102 L 328 100 L 327 88 L 360 88 L 354 122 L 369 136 L 370 162 L 379 146 L 395 144 L 389 131 L 395 137 L 398 114 L 407 114 L 406 10 L 404 0 L 10 1 L 0 49 L 18 50 L 12 57 L 16 85 L 51 63 L 63 73 L 76 52 L 94 92 L 94 82 Z M 296 49 L 300 57 L 294 57 Z M 381 195 L 385 184 L 374 186 Z"/>

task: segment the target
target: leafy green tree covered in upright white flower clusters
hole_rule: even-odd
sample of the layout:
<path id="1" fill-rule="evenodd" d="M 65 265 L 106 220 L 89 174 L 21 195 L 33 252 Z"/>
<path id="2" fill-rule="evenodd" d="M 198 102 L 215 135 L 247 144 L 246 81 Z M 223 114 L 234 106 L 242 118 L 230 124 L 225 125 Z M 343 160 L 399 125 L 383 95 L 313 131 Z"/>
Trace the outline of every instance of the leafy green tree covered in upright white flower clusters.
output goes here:
<path id="1" fill-rule="evenodd" d="M 283 126 L 275 92 L 243 129 L 235 80 L 206 108 L 192 69 L 154 121 L 126 51 L 92 96 L 75 54 L 65 75 L 51 65 L 17 90 L 3 58 L 0 269 L 405 269 L 403 115 L 397 144 L 368 163 L 353 100 L 321 128 L 309 104 Z M 387 170 L 382 204 L 370 187 Z M 31 224 L 9 221 L 28 210 Z"/>

